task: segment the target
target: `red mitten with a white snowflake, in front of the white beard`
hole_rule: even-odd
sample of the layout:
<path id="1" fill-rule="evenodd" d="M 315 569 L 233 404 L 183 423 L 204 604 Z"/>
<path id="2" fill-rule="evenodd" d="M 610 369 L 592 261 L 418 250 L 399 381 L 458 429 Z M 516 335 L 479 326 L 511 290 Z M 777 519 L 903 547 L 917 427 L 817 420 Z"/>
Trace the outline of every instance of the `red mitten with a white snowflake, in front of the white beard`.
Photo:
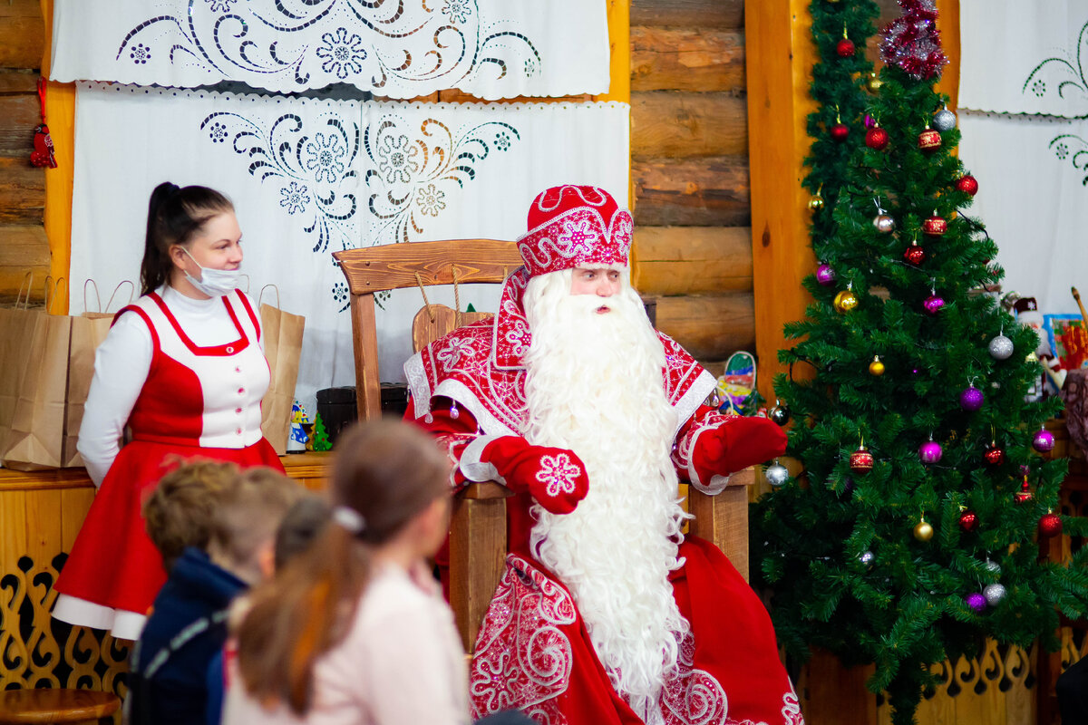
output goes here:
<path id="1" fill-rule="evenodd" d="M 574 451 L 531 446 L 519 436 L 491 441 L 480 462 L 495 466 L 510 489 L 529 491 L 552 513 L 570 513 L 590 490 L 585 465 Z"/>

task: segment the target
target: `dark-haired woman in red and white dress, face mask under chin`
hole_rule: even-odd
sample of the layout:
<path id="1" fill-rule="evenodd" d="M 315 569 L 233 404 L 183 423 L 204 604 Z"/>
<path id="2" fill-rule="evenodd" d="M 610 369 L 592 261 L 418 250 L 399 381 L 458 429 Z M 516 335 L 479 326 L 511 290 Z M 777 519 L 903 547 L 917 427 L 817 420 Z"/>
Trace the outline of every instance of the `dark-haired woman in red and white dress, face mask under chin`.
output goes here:
<path id="1" fill-rule="evenodd" d="M 139 637 L 166 578 L 140 507 L 181 460 L 283 471 L 261 436 L 269 365 L 255 307 L 237 290 L 240 241 L 222 193 L 170 183 L 151 192 L 143 296 L 95 357 L 78 450 L 99 491 L 57 580 L 59 620 Z"/>

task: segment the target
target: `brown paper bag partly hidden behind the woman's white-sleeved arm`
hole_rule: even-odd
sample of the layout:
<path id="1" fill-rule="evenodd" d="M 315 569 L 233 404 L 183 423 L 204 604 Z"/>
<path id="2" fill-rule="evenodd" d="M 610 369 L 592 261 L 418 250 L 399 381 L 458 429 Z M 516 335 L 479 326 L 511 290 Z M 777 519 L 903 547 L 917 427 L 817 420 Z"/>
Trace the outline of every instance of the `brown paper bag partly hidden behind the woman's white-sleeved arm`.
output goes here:
<path id="1" fill-rule="evenodd" d="M 83 423 L 83 408 L 87 402 L 87 393 L 90 392 L 90 380 L 95 377 L 95 351 L 102 343 L 113 324 L 113 312 L 109 312 L 113 307 L 113 298 L 123 287 L 128 286 L 128 300 L 119 304 L 124 307 L 132 302 L 133 292 L 136 286 L 124 280 L 113 290 L 109 301 L 106 303 L 106 311 L 102 310 L 102 302 L 98 297 L 98 285 L 95 280 L 88 279 L 83 286 L 83 309 L 86 312 L 78 317 L 72 317 L 72 342 L 69 351 L 69 377 L 67 377 L 67 404 L 64 411 L 64 440 L 61 445 L 61 466 L 78 467 L 83 465 L 83 459 L 76 450 L 79 440 L 79 425 Z M 96 303 L 88 304 L 87 291 L 94 289 Z"/>

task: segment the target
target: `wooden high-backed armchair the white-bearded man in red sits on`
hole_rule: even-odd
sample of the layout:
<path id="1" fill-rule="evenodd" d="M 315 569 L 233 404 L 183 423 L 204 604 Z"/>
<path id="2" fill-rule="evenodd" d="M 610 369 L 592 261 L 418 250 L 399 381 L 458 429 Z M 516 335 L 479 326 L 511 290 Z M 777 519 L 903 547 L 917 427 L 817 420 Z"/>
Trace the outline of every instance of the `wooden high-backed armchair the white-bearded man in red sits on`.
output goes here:
<path id="1" fill-rule="evenodd" d="M 490 317 L 490 313 L 459 313 L 426 303 L 425 287 L 459 284 L 502 284 L 521 266 L 512 241 L 457 239 L 384 245 L 334 252 L 351 296 L 351 337 L 355 349 L 356 400 L 359 418 L 381 416 L 378 334 L 374 295 L 419 287 L 425 307 L 416 315 L 416 351 L 452 332 L 457 325 Z M 688 487 L 690 532 L 713 541 L 747 579 L 747 485 L 754 471 L 733 474 L 718 496 Z M 506 557 L 506 498 L 500 484 L 472 484 L 455 497 L 449 530 L 449 604 L 467 652 L 503 574 Z"/>

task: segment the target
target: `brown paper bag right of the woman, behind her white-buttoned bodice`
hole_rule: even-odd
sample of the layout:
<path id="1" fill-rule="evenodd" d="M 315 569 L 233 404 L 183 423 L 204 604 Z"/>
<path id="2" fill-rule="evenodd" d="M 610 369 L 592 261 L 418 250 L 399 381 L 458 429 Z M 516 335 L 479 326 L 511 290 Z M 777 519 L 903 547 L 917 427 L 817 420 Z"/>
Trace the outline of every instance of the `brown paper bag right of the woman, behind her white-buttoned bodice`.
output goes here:
<path id="1" fill-rule="evenodd" d="M 273 285 L 265 285 L 264 289 Z M 272 370 L 272 382 L 261 401 L 261 433 L 280 455 L 287 451 L 290 434 L 290 410 L 295 403 L 295 384 L 298 382 L 298 359 L 302 354 L 302 329 L 306 317 L 280 309 L 280 290 L 275 289 L 276 305 L 260 304 L 261 336 L 264 357 Z"/>

